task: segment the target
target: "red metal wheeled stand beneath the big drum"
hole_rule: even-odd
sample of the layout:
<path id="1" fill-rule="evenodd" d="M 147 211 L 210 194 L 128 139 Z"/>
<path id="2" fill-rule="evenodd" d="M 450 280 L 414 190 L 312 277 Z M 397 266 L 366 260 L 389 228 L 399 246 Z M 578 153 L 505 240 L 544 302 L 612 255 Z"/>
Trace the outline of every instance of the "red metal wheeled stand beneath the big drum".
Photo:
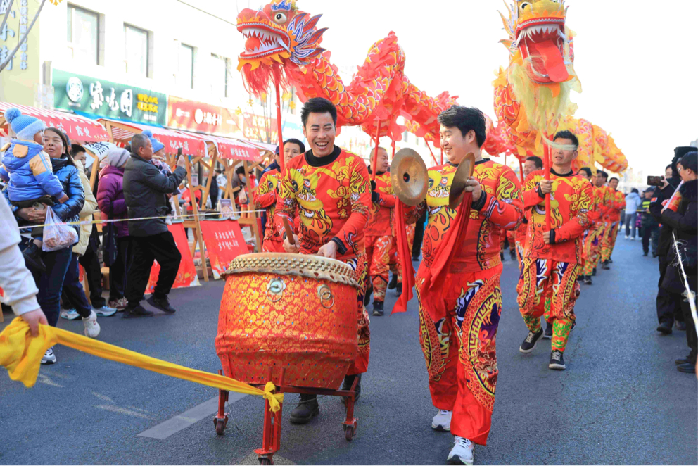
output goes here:
<path id="1" fill-rule="evenodd" d="M 344 437 L 347 441 L 351 441 L 356 435 L 357 429 L 357 419 L 354 417 L 354 399 L 356 396 L 356 385 L 359 381 L 358 377 L 355 377 L 354 383 L 350 390 L 331 390 L 331 389 L 319 389 L 311 387 L 302 386 L 291 386 L 284 385 L 284 372 L 283 367 L 280 368 L 279 377 L 273 377 L 272 370 L 269 369 L 269 381 L 274 382 L 277 387 L 277 393 L 303 393 L 306 395 L 321 395 L 321 396 L 341 396 L 344 398 L 343 402 L 346 405 L 346 418 L 342 424 L 344 429 Z M 218 374 L 222 374 L 222 371 L 218 371 Z M 264 389 L 265 384 L 251 384 L 257 386 L 260 389 Z M 223 435 L 227 424 L 228 415 L 225 412 L 225 403 L 228 401 L 228 391 L 219 390 L 218 391 L 218 413 L 213 417 L 213 424 L 215 425 L 216 434 Z M 279 451 L 281 447 L 281 413 L 284 410 L 284 403 L 281 403 L 281 409 L 276 413 L 272 413 L 269 409 L 269 401 L 265 400 L 264 403 L 264 427 L 263 427 L 263 438 L 262 438 L 262 448 L 255 450 L 258 455 L 258 460 L 260 465 L 273 465 L 274 464 L 274 453 Z"/>

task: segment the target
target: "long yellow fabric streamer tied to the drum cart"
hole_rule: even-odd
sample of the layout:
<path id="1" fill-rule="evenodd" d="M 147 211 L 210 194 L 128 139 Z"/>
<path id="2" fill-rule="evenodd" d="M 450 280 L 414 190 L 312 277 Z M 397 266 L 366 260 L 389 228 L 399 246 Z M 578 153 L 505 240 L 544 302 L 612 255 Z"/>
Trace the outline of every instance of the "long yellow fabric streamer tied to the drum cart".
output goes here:
<path id="1" fill-rule="evenodd" d="M 19 380 L 27 388 L 30 388 L 34 386 L 37 382 L 37 377 L 39 377 L 42 356 L 48 348 L 55 344 L 70 346 L 70 348 L 84 351 L 84 353 L 89 353 L 99 358 L 140 367 L 141 369 L 177 377 L 177 379 L 189 380 L 189 382 L 196 382 L 197 384 L 212 386 L 216 389 L 262 396 L 269 401 L 269 407 L 274 413 L 281 408 L 279 403 L 284 402 L 284 393 L 274 393 L 276 387 L 272 382 L 267 382 L 264 390 L 260 390 L 229 377 L 167 363 L 167 361 L 161 359 L 151 358 L 135 351 L 110 345 L 103 341 L 89 339 L 87 336 L 50 327 L 49 325 L 39 325 L 39 336 L 34 338 L 30 332 L 29 325 L 20 317 L 16 317 L 0 333 L 0 365 L 6 367 L 11 379 Z"/>

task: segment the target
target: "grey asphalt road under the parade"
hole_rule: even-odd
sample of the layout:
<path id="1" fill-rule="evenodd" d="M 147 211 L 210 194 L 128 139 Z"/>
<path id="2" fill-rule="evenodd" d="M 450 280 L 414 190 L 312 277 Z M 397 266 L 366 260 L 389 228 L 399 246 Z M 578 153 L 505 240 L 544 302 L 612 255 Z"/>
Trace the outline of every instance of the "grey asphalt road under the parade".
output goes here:
<path id="1" fill-rule="evenodd" d="M 657 265 L 641 254 L 639 241 L 619 238 L 611 270 L 583 286 L 564 372 L 547 369 L 547 344 L 519 353 L 526 327 L 515 301 L 516 265 L 507 258 L 497 401 L 476 464 L 698 464 L 697 381 L 673 363 L 687 354 L 685 334 L 655 332 Z M 173 291 L 172 316 L 101 318 L 100 339 L 215 372 L 222 289 L 211 282 Z M 388 295 L 391 308 L 395 297 Z M 7 323 L 11 315 L 5 317 Z M 79 320 L 59 325 L 82 332 Z M 405 314 L 373 317 L 357 436 L 345 441 L 343 406 L 324 398 L 310 424 L 284 419 L 277 464 L 444 464 L 452 437 L 431 429 L 436 410 L 417 329 L 415 300 Z M 219 437 L 211 421 L 215 389 L 63 346 L 56 356 L 32 389 L 1 371 L 0 464 L 256 464 L 260 398 L 230 403 L 231 421 Z M 139 435 L 146 431 L 150 437 Z"/>

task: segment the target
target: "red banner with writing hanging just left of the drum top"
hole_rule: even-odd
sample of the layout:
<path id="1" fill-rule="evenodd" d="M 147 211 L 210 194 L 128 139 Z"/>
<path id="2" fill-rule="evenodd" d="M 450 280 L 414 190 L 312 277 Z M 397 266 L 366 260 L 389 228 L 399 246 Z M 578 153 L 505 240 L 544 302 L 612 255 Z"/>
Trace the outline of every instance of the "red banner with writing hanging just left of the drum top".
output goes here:
<path id="1" fill-rule="evenodd" d="M 215 279 L 220 278 L 231 260 L 249 252 L 240 225 L 235 220 L 204 220 L 201 234 Z"/>

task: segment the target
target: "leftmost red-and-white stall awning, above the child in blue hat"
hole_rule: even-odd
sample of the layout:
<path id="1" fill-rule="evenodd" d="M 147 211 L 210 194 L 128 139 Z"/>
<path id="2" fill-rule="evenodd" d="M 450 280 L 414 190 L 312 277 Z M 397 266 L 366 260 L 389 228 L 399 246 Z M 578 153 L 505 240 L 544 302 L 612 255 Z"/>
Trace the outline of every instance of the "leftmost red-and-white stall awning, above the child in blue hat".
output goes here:
<path id="1" fill-rule="evenodd" d="M 0 102 L 0 134 L 8 137 L 8 124 L 5 120 L 5 111 L 8 108 L 19 108 L 24 115 L 31 115 L 39 118 L 46 126 L 56 127 L 59 130 L 68 134 L 71 141 L 108 141 L 109 134 L 104 127 L 94 120 L 84 118 L 80 115 L 72 113 L 64 113 L 55 110 L 47 110 L 45 108 L 36 108 L 25 105 L 17 105 L 16 103 Z"/>

